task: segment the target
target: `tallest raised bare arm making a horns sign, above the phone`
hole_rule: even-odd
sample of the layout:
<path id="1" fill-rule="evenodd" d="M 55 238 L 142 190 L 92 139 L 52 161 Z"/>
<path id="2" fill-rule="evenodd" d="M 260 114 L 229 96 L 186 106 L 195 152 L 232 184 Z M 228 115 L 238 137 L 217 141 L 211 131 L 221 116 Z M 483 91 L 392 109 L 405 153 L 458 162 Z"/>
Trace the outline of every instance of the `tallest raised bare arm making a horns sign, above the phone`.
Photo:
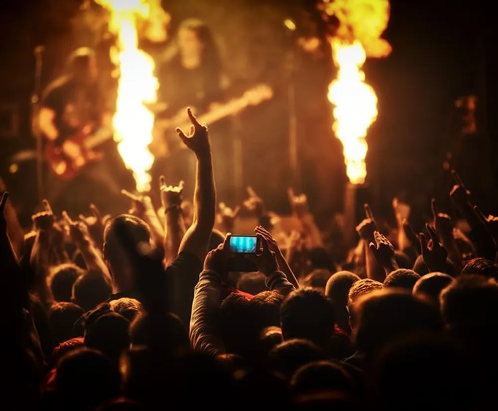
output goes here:
<path id="1" fill-rule="evenodd" d="M 179 252 L 191 252 L 203 261 L 215 223 L 216 194 L 213 162 L 208 128 L 206 125 L 199 124 L 190 108 L 187 112 L 192 122 L 190 134 L 185 135 L 180 128 L 176 131 L 183 143 L 197 158 L 197 175 L 194 191 L 194 222 L 185 233 Z"/>

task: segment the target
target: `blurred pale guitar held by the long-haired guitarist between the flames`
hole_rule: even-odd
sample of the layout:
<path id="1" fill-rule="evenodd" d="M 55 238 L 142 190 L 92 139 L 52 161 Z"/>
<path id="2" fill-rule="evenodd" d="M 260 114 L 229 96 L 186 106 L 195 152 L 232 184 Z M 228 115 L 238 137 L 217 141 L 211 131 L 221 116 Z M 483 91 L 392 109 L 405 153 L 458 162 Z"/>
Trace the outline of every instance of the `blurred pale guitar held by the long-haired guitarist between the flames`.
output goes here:
<path id="1" fill-rule="evenodd" d="M 273 90 L 266 84 L 258 84 L 255 87 L 247 90 L 242 96 L 233 98 L 226 103 L 220 104 L 213 110 L 197 116 L 199 123 L 214 124 L 226 117 L 240 113 L 249 106 L 256 106 L 263 101 L 273 97 Z M 195 113 L 195 109 L 193 110 Z M 180 139 L 168 138 L 170 134 L 180 127 L 184 131 L 190 130 L 190 120 L 187 110 L 182 109 L 176 115 L 167 119 L 157 119 L 154 124 L 154 142 L 150 149 L 156 157 L 164 157 L 171 155 L 176 148 L 185 148 L 180 144 Z"/>

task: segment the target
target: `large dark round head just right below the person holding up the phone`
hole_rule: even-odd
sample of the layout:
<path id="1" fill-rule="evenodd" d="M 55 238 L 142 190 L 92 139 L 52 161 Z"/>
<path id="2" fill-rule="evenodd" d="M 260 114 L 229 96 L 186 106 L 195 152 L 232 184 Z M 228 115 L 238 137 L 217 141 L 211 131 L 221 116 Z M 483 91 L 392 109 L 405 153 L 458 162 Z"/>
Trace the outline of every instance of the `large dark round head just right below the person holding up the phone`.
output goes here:
<path id="1" fill-rule="evenodd" d="M 292 291 L 280 308 L 280 326 L 285 340 L 303 338 L 325 348 L 334 333 L 334 305 L 311 288 Z"/>

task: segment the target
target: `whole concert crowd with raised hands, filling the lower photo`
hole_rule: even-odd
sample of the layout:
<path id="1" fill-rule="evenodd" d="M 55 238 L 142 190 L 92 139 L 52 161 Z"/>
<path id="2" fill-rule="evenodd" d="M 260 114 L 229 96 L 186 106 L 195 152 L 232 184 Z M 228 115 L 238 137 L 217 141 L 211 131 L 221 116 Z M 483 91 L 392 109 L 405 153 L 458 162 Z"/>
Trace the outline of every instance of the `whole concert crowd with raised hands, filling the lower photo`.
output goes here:
<path id="1" fill-rule="evenodd" d="M 191 203 L 161 178 L 159 209 L 130 195 L 126 214 L 76 219 L 44 201 L 26 234 L 3 192 L 2 408 L 494 407 L 498 218 L 456 172 L 452 217 L 432 200 L 417 234 L 396 202 L 390 228 L 366 205 L 344 261 L 305 195 L 284 233 L 249 189 L 246 272 L 228 247 L 239 209 L 217 206 L 208 129 L 188 114 Z"/>

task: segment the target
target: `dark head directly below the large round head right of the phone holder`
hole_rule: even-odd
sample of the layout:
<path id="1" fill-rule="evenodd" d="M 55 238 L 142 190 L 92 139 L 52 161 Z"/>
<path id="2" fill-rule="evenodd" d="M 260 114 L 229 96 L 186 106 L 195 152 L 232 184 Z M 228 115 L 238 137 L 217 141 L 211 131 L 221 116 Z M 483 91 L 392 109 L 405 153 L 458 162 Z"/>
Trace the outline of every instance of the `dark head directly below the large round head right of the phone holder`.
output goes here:
<path id="1" fill-rule="evenodd" d="M 310 362 L 326 360 L 325 351 L 311 341 L 290 339 L 278 344 L 268 354 L 270 367 L 283 374 L 288 380 L 303 365 Z"/>

